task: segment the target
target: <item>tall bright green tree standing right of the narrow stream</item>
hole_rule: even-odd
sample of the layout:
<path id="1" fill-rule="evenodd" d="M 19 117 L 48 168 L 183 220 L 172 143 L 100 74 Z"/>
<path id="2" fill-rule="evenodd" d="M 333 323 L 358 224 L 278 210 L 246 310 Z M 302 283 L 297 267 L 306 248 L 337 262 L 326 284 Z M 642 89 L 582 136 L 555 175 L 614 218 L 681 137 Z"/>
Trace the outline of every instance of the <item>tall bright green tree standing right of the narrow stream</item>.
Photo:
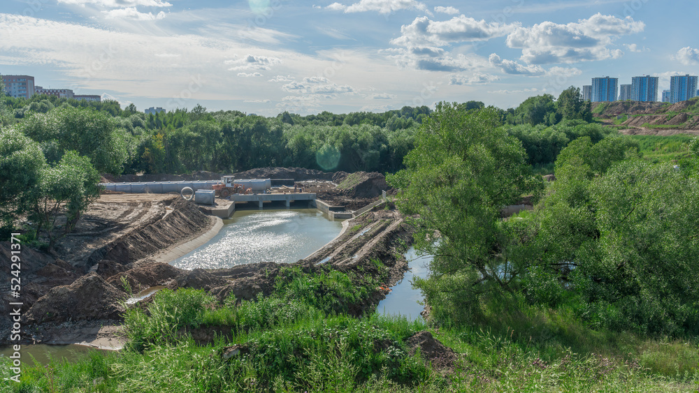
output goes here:
<path id="1" fill-rule="evenodd" d="M 439 103 L 420 128 L 405 170 L 389 176 L 403 191 L 397 205 L 417 214 L 416 248 L 434 255 L 416 286 L 436 318 L 470 320 L 491 288 L 508 289 L 500 265 L 500 209 L 521 195 L 539 195 L 519 140 L 499 128 L 495 110 L 463 112 Z"/>

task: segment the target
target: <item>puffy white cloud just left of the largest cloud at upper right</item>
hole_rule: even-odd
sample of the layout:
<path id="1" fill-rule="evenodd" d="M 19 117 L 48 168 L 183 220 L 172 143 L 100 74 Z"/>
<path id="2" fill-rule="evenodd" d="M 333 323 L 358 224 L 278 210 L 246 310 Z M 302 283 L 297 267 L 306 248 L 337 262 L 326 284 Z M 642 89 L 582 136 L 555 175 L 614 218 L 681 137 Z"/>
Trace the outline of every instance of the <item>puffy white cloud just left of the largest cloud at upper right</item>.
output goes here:
<path id="1" fill-rule="evenodd" d="M 416 17 L 411 24 L 401 27 L 401 36 L 391 40 L 403 47 L 444 46 L 449 43 L 485 41 L 507 35 L 515 25 L 475 20 L 459 15 L 446 21 Z"/>

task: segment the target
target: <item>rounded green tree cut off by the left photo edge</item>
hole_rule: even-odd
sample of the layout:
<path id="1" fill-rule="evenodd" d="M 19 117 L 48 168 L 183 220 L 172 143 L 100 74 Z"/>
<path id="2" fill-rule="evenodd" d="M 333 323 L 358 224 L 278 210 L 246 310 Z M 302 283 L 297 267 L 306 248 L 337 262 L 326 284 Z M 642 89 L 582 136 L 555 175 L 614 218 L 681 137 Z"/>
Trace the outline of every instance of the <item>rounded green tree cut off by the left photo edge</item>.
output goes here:
<path id="1" fill-rule="evenodd" d="M 38 143 L 12 128 L 0 130 L 0 232 L 10 232 L 31 207 L 45 165 Z"/>

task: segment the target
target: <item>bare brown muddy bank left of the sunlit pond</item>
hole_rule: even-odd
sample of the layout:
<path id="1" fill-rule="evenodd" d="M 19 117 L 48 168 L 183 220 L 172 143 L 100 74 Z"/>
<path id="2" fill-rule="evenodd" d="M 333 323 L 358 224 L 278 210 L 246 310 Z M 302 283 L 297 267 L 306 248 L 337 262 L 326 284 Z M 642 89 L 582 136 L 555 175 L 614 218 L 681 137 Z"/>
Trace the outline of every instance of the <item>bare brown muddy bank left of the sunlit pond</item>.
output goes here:
<path id="1" fill-rule="evenodd" d="M 120 282 L 109 279 L 139 262 L 148 265 L 148 257 L 197 237 L 212 223 L 191 202 L 173 195 L 148 196 L 152 198 L 103 195 L 80 218 L 75 232 L 59 240 L 54 253 L 22 248 L 23 285 L 20 298 L 13 301 L 22 302 L 24 339 L 45 339 L 95 321 L 99 325 L 118 322 L 124 292 Z M 0 242 L 0 255 L 10 255 L 8 242 Z M 7 274 L 0 272 L 6 286 Z M 160 280 L 148 272 L 140 281 L 150 286 Z M 3 289 L 6 301 L 0 311 L 5 313 L 10 299 L 9 288 Z M 9 323 L 8 318 L 0 318 L 0 328 L 7 329 Z M 0 343 L 7 340 L 2 336 Z"/>

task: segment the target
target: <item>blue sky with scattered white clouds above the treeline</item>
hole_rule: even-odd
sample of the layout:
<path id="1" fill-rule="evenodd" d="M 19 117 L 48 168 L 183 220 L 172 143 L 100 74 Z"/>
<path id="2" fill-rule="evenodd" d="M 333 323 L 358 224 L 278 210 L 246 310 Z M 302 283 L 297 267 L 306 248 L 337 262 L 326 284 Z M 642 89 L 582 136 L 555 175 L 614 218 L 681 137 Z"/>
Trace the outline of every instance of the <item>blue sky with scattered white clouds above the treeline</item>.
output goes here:
<path id="1" fill-rule="evenodd" d="M 698 75 L 697 15 L 696 0 L 2 0 L 0 74 L 138 110 L 507 108 L 592 77 Z"/>

